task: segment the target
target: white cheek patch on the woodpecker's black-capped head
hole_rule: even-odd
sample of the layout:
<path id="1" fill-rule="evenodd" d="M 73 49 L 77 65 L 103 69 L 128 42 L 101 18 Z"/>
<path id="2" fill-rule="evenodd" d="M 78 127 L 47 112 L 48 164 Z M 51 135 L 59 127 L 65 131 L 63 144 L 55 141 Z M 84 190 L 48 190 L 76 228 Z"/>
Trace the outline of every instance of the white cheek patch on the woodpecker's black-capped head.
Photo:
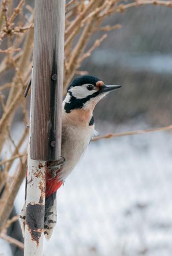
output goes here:
<path id="1" fill-rule="evenodd" d="M 73 97 L 76 99 L 83 99 L 86 98 L 96 92 L 96 90 L 89 91 L 87 89 L 88 84 L 82 84 L 82 86 L 75 86 L 72 87 L 69 91 L 72 93 Z"/>

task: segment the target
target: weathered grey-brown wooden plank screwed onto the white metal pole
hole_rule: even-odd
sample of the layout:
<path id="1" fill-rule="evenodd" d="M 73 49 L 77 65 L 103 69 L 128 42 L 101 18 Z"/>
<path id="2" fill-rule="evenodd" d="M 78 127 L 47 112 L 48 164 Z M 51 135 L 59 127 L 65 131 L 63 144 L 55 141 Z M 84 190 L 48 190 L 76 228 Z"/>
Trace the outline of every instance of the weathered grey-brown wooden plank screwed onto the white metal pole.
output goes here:
<path id="1" fill-rule="evenodd" d="M 61 155 L 65 0 L 35 1 L 31 158 Z"/>

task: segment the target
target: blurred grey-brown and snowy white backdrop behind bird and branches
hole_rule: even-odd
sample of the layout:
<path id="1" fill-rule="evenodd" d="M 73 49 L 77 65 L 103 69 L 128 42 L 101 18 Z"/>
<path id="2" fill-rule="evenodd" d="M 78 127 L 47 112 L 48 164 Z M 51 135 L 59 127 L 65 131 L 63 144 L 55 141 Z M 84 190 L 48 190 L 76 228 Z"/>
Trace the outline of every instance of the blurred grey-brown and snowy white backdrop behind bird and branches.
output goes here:
<path id="1" fill-rule="evenodd" d="M 108 32 L 79 68 L 106 84 L 122 85 L 95 109 L 101 135 L 171 124 L 171 21 L 172 10 L 156 5 L 103 21 L 122 28 Z M 86 50 L 101 35 L 94 33 Z M 12 76 L 4 73 L 1 84 Z M 15 141 L 24 129 L 21 119 L 18 111 L 11 131 Z M 45 255 L 170 256 L 171 145 L 171 131 L 93 141 L 58 191 L 58 223 L 45 242 Z M 23 202 L 24 182 L 15 200 L 17 213 Z M 12 255 L 3 239 L 0 253 Z"/>

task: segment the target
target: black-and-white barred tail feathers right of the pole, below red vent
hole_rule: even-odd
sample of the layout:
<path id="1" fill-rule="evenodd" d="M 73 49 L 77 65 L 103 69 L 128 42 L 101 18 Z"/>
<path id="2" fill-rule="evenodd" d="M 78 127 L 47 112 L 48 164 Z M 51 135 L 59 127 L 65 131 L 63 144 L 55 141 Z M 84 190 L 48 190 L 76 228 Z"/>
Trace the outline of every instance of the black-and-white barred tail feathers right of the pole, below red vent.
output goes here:
<path id="1" fill-rule="evenodd" d="M 56 192 L 45 200 L 44 235 L 46 240 L 50 239 L 53 227 L 56 224 Z"/>

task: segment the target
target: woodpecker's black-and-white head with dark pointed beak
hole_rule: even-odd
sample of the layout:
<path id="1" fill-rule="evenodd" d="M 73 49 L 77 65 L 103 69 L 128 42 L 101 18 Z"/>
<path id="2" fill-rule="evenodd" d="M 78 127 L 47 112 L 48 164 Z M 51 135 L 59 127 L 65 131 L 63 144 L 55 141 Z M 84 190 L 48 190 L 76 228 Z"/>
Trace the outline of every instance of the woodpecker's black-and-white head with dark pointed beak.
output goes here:
<path id="1" fill-rule="evenodd" d="M 67 113 L 72 109 L 82 108 L 93 110 L 95 105 L 109 92 L 121 86 L 107 86 L 97 77 L 83 75 L 72 80 L 64 100 Z"/>

